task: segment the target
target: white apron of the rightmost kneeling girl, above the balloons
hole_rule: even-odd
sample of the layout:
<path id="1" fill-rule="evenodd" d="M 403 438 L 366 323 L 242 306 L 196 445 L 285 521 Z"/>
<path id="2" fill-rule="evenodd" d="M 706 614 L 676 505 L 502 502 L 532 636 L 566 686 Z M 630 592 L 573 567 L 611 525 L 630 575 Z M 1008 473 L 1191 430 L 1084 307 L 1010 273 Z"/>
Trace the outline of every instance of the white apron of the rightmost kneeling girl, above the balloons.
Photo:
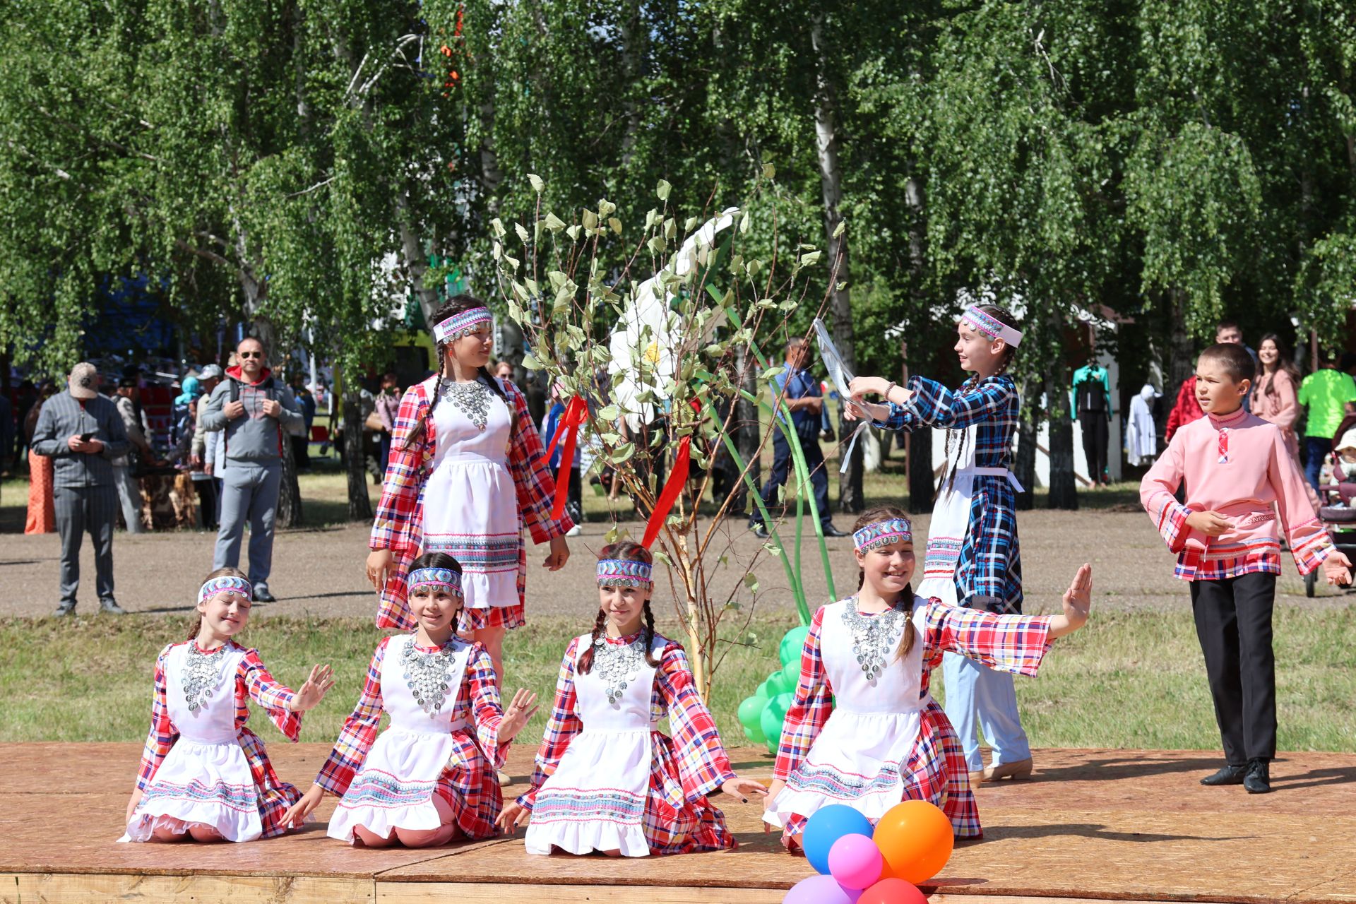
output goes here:
<path id="1" fill-rule="evenodd" d="M 919 698 L 926 600 L 915 596 L 913 604 L 913 649 L 902 660 L 895 656 L 903 638 L 900 618 L 888 641 L 885 665 L 872 679 L 857 661 L 853 630 L 845 622 L 845 615 L 856 613 L 857 599 L 824 607 L 819 653 L 834 691 L 834 712 L 763 813 L 769 825 L 784 828 L 793 813 L 808 817 L 830 804 L 846 804 L 876 820 L 903 800 L 902 771 L 918 743 L 922 710 L 932 702 L 930 697 Z"/>

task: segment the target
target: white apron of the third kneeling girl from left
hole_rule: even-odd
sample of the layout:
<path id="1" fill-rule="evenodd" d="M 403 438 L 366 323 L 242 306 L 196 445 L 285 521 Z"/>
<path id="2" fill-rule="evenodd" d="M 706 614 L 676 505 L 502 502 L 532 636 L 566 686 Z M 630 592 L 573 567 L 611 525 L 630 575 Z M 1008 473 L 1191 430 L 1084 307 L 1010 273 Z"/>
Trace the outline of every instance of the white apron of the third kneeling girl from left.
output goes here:
<path id="1" fill-rule="evenodd" d="M 579 638 L 579 656 L 591 642 L 589 634 Z M 663 641 L 656 637 L 651 653 L 658 659 L 660 651 Z M 556 771 L 537 790 L 527 824 L 529 854 L 549 854 L 552 846 L 571 854 L 650 854 L 643 819 L 650 793 L 650 732 L 655 728 L 650 721 L 655 668 L 639 659 L 624 678 L 625 687 L 617 687 L 620 697 L 609 701 L 597 659 L 587 675 L 575 672 L 575 714 L 583 731 L 570 739 Z"/>

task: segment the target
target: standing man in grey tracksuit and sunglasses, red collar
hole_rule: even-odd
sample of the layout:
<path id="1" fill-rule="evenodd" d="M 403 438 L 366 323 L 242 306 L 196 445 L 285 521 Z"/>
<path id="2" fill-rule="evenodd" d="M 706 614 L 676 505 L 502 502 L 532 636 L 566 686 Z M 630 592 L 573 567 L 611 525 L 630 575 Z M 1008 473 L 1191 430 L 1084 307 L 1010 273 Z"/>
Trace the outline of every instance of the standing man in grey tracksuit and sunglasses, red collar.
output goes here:
<path id="1" fill-rule="evenodd" d="M 243 339 L 237 365 L 212 390 L 198 417 L 203 430 L 222 430 L 226 446 L 221 488 L 221 525 L 213 569 L 239 568 L 240 541 L 250 520 L 250 583 L 255 602 L 273 602 L 273 522 L 278 511 L 285 434 L 302 427 L 292 390 L 263 366 L 263 344 Z"/>

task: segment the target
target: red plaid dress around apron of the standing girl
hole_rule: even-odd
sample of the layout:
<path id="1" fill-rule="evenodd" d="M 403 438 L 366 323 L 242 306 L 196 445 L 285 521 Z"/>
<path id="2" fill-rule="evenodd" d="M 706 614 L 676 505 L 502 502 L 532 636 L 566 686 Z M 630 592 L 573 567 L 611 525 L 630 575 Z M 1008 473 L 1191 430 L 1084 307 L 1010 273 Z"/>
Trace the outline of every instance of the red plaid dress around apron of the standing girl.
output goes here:
<path id="1" fill-rule="evenodd" d="M 415 621 L 405 604 L 405 573 L 423 546 L 423 488 L 433 470 L 437 438 L 434 422 L 424 424 L 423 434 L 405 449 L 407 440 L 420 419 L 428 411 L 437 377 L 430 377 L 405 390 L 396 415 L 396 428 L 391 432 L 391 458 L 386 464 L 386 478 L 377 504 L 377 518 L 372 525 L 372 549 L 389 549 L 396 562 L 391 579 L 381 591 L 377 607 L 377 628 L 397 628 L 412 630 Z M 513 474 L 518 491 L 518 512 L 532 539 L 545 543 L 555 537 L 563 537 L 574 527 L 568 515 L 559 520 L 551 518 L 551 504 L 556 493 L 556 481 L 551 477 L 541 436 L 527 413 L 527 400 L 522 392 L 500 381 L 504 394 L 514 411 L 513 440 L 509 446 L 509 473 Z M 518 548 L 518 602 L 523 603 L 527 592 L 527 552 L 519 542 Z"/>

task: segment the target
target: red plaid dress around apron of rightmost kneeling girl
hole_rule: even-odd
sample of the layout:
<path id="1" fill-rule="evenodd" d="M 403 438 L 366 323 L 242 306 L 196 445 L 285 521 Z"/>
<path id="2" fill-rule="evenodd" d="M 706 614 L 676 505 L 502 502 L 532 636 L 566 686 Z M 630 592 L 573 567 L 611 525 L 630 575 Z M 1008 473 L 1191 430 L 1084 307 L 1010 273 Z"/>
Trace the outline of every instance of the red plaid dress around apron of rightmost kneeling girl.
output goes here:
<path id="1" fill-rule="evenodd" d="M 834 689 L 824 672 L 819 638 L 823 632 L 823 607 L 810 623 L 810 636 L 800 655 L 800 680 L 796 697 L 782 726 L 773 778 L 786 778 L 804 762 L 811 744 L 833 713 Z M 976 609 L 928 602 L 928 630 L 923 644 L 921 698 L 928 697 L 932 671 L 941 667 L 942 653 L 961 653 L 1001 671 L 1035 675 L 1040 660 L 1050 651 L 1050 617 L 994 615 Z M 965 755 L 941 706 L 929 701 L 921 714 L 918 740 L 904 762 L 900 781 L 902 800 L 929 801 L 951 819 L 956 838 L 982 838 L 975 794 L 970 790 Z M 786 820 L 782 843 L 791 844 L 805 828 L 805 817 Z M 797 842 L 799 843 L 799 842 Z"/>

